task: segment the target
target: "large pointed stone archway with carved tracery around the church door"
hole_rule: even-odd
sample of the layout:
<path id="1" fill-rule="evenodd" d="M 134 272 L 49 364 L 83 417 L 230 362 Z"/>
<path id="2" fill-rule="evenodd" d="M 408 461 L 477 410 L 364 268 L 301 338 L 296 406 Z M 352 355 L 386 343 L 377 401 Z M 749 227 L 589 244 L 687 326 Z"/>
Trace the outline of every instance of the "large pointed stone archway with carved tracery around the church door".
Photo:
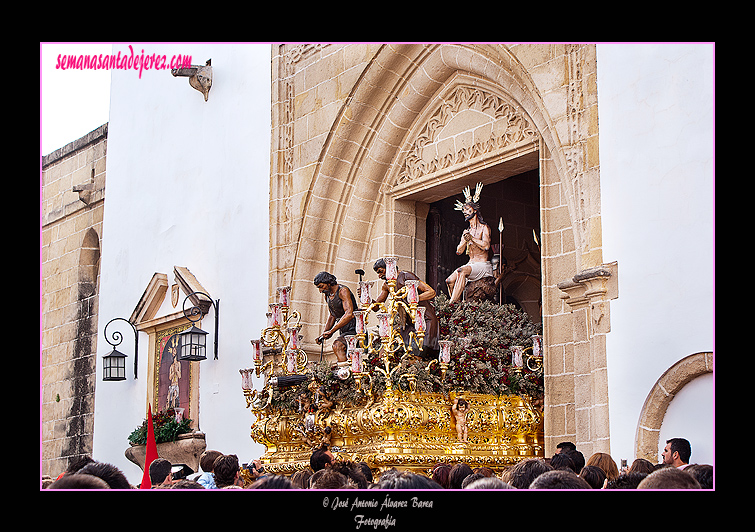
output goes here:
<path id="1" fill-rule="evenodd" d="M 293 138 L 296 106 L 309 96 L 296 92 L 297 72 L 330 68 L 335 76 L 328 58 L 339 50 L 302 45 L 285 54 L 285 138 L 271 184 L 271 217 L 285 221 L 271 233 L 270 293 L 291 284 L 303 325 L 319 330 L 319 271 L 348 282 L 389 253 L 416 268 L 432 198 L 458 194 L 488 168 L 526 161 L 540 169 L 546 443 L 568 438 L 585 452 L 606 450 L 603 335 L 616 270 L 603 267 L 600 252 L 594 46 L 347 46 L 371 55 L 353 86 L 339 86 L 347 96 L 322 102 L 332 119 L 319 127 L 323 140 L 306 172 L 304 161 L 292 164 L 302 153 L 293 147 L 306 144 Z M 319 353 L 313 338 L 304 347 Z"/>

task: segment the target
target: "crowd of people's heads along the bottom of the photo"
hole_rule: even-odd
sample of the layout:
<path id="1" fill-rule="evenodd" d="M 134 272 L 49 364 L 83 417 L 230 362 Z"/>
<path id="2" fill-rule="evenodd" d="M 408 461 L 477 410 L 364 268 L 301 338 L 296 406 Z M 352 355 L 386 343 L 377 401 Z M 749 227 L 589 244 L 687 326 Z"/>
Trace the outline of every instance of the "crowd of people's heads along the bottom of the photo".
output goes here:
<path id="1" fill-rule="evenodd" d="M 309 467 L 286 476 L 265 471 L 259 460 L 241 464 L 235 454 L 205 451 L 201 471 L 158 458 L 149 465 L 150 489 L 713 489 L 713 466 L 690 464 L 691 447 L 684 438 L 666 442 L 662 462 L 638 458 L 619 468 L 606 453 L 585 456 L 571 442 L 562 442 L 549 459 L 522 460 L 501 473 L 466 463 L 440 463 L 428 475 L 396 468 L 379 478 L 365 462 L 339 460 L 323 445 Z M 189 473 L 188 475 L 186 473 Z M 72 463 L 56 479 L 43 479 L 46 489 L 136 489 L 115 466 L 90 457 Z"/>

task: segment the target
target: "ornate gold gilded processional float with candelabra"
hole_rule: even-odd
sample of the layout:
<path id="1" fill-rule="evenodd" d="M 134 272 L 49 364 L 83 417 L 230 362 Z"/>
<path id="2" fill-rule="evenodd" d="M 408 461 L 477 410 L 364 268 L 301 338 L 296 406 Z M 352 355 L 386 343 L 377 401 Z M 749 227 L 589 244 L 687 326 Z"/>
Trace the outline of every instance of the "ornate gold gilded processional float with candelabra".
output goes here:
<path id="1" fill-rule="evenodd" d="M 442 341 L 437 359 L 419 358 L 424 327 L 416 293 L 407 286 L 397 290 L 395 267 L 390 268 L 390 297 L 360 311 L 364 322 L 348 339 L 349 361 L 334 366 L 307 361 L 299 315 L 288 305 L 290 288 L 278 289 L 268 327 L 252 340 L 255 367 L 240 370 L 246 406 L 256 418 L 251 437 L 266 448 L 265 469 L 279 474 L 304 469 L 323 443 L 337 458 L 364 461 L 378 475 L 392 467 L 428 473 L 435 464 L 458 462 L 500 471 L 542 457 L 542 411 L 528 395 L 476 393 L 458 384 L 431 390 L 429 375 L 436 388 L 447 384 L 454 367 L 451 347 L 464 339 Z M 377 330 L 366 327 L 369 311 L 378 314 Z M 403 337 L 396 326 L 401 312 L 418 325 Z M 511 346 L 512 374 L 541 371 L 538 340 L 532 347 Z M 522 355 L 533 349 L 525 365 Z M 253 374 L 264 374 L 262 390 L 254 389 Z M 337 396 L 329 393 L 328 382 L 335 383 Z M 454 408 L 464 403 L 457 399 L 466 401 L 466 410 Z M 462 425 L 465 431 L 458 430 Z"/>

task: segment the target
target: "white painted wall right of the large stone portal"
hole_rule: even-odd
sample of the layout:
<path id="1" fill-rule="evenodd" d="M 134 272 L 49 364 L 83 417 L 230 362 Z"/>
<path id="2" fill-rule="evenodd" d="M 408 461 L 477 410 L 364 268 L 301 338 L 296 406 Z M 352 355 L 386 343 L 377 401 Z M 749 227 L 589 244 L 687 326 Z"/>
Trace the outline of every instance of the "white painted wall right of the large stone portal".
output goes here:
<path id="1" fill-rule="evenodd" d="M 611 454 L 631 463 L 657 379 L 714 348 L 714 46 L 599 44 L 597 57 L 603 259 L 619 263 L 607 336 Z M 699 463 L 713 463 L 712 409 L 698 418 L 713 404 L 712 382 L 685 388 L 664 420 L 666 439 L 689 439 Z"/>

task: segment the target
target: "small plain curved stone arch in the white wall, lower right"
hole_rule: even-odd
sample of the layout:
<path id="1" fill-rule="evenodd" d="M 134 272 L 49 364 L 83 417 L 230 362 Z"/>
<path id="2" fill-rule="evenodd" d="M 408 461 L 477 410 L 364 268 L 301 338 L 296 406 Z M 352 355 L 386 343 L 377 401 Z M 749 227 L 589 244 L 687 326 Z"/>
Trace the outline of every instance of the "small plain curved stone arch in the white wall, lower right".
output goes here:
<path id="1" fill-rule="evenodd" d="M 707 373 L 713 373 L 713 353 L 694 353 L 671 366 L 655 382 L 645 399 L 637 424 L 637 458 L 656 462 L 661 425 L 671 401 L 687 383 Z"/>

